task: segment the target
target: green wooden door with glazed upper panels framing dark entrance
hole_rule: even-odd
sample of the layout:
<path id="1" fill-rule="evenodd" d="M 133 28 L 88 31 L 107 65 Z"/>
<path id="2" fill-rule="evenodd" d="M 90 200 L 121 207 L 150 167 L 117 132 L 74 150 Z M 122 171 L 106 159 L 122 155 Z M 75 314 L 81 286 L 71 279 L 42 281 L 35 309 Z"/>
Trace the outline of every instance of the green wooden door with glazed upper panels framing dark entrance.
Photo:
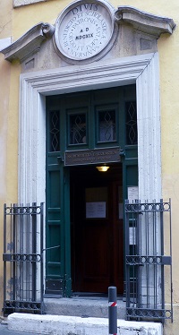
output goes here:
<path id="1" fill-rule="evenodd" d="M 138 185 L 134 85 L 47 97 L 47 294 L 70 296 L 72 288 L 70 168 L 64 152 L 109 147 L 122 149 L 126 199 L 128 187 Z"/>

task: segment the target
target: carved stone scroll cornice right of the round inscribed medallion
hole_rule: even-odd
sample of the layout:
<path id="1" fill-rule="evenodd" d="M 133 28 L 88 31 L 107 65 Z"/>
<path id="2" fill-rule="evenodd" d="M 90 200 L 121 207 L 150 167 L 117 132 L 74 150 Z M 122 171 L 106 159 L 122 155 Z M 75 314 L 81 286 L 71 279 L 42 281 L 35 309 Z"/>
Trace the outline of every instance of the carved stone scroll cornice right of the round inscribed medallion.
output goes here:
<path id="1" fill-rule="evenodd" d="M 157 38 L 162 33 L 172 34 L 175 29 L 175 22 L 172 19 L 146 13 L 127 5 L 118 6 L 115 18 L 119 22 L 131 23 L 135 30 L 154 35 Z"/>

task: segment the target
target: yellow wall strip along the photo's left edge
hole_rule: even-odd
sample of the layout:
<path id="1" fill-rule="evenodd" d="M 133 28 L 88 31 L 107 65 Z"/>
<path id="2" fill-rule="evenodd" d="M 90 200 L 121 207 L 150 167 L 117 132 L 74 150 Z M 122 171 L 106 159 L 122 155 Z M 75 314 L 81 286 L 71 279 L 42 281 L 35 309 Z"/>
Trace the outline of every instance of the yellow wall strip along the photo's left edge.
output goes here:
<path id="1" fill-rule="evenodd" d="M 9 38 L 12 34 L 12 1 L 0 2 L 0 39 Z M 7 199 L 7 175 L 10 171 L 7 167 L 7 131 L 9 117 L 9 92 L 11 80 L 11 64 L 4 62 L 4 56 L 0 54 L 0 302 L 3 302 L 3 208 Z M 17 148 L 15 148 L 17 152 Z M 15 166 L 15 171 L 17 167 Z M 16 177 L 15 177 L 16 178 Z M 0 308 L 1 310 L 1 308 Z"/>

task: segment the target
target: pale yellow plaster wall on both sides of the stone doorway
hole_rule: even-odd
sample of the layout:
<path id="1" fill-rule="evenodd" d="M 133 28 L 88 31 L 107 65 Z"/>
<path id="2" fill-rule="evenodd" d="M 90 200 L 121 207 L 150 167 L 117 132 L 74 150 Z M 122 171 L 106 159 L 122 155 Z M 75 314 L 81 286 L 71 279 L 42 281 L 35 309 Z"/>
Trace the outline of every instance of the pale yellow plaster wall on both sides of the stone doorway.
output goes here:
<path id="1" fill-rule="evenodd" d="M 57 15 L 70 2 L 67 0 L 52 0 L 36 4 L 29 4 L 13 9 L 13 0 L 3 0 L 0 4 L 0 39 L 13 36 L 13 41 L 21 37 L 39 21 L 55 24 Z M 179 322 L 179 253 L 178 249 L 178 198 L 179 198 L 179 118 L 178 118 L 178 64 L 179 52 L 179 3 L 178 0 L 123 0 L 110 1 L 115 6 L 131 5 L 145 12 L 154 13 L 172 18 L 176 23 L 176 29 L 172 36 L 163 35 L 158 39 L 158 55 L 160 64 L 160 104 L 161 104 L 161 148 L 162 148 L 162 195 L 164 200 L 172 199 L 172 221 L 173 221 L 173 279 L 174 279 L 174 324 L 166 322 L 165 332 L 167 335 L 177 335 L 177 324 Z M 3 13 L 3 14 L 1 14 Z M 130 28 L 129 28 L 130 30 Z M 48 47 L 52 48 L 50 43 Z M 43 49 L 43 47 L 42 47 Z M 41 62 L 41 63 L 40 63 Z M 56 58 L 56 62 L 57 61 Z M 57 63 L 56 63 L 57 64 Z M 54 64 L 55 65 L 55 64 Z M 59 63 L 58 63 L 59 65 Z M 49 59 L 39 61 L 41 70 L 49 67 Z M 24 69 L 23 69 L 24 71 Z M 0 178 L 0 228 L 3 228 L 3 203 L 15 202 L 17 199 L 17 157 L 18 157 L 18 110 L 19 110 L 19 75 L 21 66 L 13 65 L 4 61 L 0 55 L 0 148 L 1 160 Z M 4 98 L 5 97 L 5 98 Z M 9 99 L 8 99 L 9 97 Z M 4 98 L 4 99 L 3 99 Z M 6 113 L 4 113 L 4 109 Z M 156 155 L 158 152 L 155 153 Z M 3 185 L 3 186 L 2 186 Z M 1 237 L 2 239 L 2 237 Z M 2 241 L 1 241 L 2 242 Z M 3 245 L 1 243 L 0 245 Z M 0 246 L 0 253 L 2 253 Z M 2 273 L 2 261 L 0 261 L 0 273 Z M 0 280 L 2 280 L 0 275 Z M 1 282 L 0 282 L 1 284 Z M 1 285 L 2 287 L 2 285 Z M 0 291 L 2 302 L 2 290 Z M 2 305 L 2 304 L 1 304 Z"/>

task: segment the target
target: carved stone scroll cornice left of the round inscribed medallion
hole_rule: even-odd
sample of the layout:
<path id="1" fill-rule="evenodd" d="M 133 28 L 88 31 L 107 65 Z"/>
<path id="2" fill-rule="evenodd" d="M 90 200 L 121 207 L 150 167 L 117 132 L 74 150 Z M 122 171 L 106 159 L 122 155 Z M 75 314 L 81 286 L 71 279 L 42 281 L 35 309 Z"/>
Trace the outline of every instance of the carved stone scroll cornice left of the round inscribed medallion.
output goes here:
<path id="1" fill-rule="evenodd" d="M 9 47 L 5 47 L 1 52 L 9 62 L 19 60 L 23 62 L 26 58 L 35 54 L 42 42 L 50 38 L 54 33 L 54 26 L 49 23 L 40 22 L 28 30 L 20 39 L 17 39 Z"/>

